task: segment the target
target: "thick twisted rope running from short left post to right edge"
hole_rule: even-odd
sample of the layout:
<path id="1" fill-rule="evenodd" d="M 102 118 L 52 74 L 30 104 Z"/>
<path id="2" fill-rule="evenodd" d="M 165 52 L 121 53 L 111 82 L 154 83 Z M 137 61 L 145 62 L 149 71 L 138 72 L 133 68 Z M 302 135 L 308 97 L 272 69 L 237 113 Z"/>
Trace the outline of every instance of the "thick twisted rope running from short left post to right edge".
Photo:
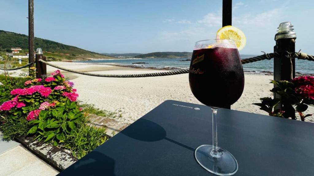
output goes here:
<path id="1" fill-rule="evenodd" d="M 262 51 L 263 52 L 263 51 Z M 247 59 L 242 59 L 241 63 L 242 64 L 247 64 L 247 63 L 252 63 L 260 60 L 270 60 L 273 57 L 278 57 L 279 53 L 274 52 L 274 53 L 265 53 L 263 52 L 263 55 L 260 56 L 255 56 Z M 300 53 L 300 52 L 295 52 L 294 56 L 295 58 L 298 59 L 303 59 L 303 60 L 310 60 L 314 61 L 314 56 L 308 55 L 305 53 Z M 81 75 L 88 75 L 88 76 L 98 76 L 98 77 L 109 77 L 109 78 L 139 78 L 139 77 L 153 77 L 153 76 L 168 76 L 168 75 L 179 75 L 179 74 L 185 74 L 189 73 L 189 69 L 183 69 L 183 70 L 174 70 L 174 71 L 167 71 L 167 72 L 159 72 L 159 73 L 145 73 L 145 74 L 129 74 L 129 75 L 112 75 L 112 74 L 98 74 L 98 73 L 89 73 L 89 72 L 83 72 L 83 71 L 78 71 L 78 70 L 72 70 L 72 69 L 67 69 L 58 65 L 51 64 L 49 62 L 46 62 L 44 60 L 39 60 L 40 62 L 50 65 L 51 67 L 55 67 L 60 70 L 65 70 Z"/>

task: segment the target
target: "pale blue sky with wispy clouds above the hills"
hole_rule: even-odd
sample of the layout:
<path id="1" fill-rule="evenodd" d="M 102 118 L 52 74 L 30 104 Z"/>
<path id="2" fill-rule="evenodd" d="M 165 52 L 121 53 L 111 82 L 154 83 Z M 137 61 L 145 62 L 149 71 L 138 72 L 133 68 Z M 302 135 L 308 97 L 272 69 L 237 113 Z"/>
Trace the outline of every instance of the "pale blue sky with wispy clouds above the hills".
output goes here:
<path id="1" fill-rule="evenodd" d="M 35 36 L 105 53 L 190 51 L 214 39 L 220 0 L 34 0 Z M 0 0 L 0 29 L 28 34 L 28 1 Z M 313 54 L 311 0 L 233 0 L 232 25 L 246 34 L 240 54 L 272 52 L 279 23 L 290 21 L 296 50 Z M 16 46 L 18 47 L 18 46 Z"/>

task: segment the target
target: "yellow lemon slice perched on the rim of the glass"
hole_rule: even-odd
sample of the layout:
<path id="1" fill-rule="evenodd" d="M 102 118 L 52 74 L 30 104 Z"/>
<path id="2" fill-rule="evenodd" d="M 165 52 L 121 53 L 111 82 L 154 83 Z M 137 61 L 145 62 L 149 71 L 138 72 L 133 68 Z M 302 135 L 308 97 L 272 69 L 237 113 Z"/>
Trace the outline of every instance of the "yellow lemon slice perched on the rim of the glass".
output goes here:
<path id="1" fill-rule="evenodd" d="M 216 39 L 232 39 L 236 41 L 236 47 L 240 51 L 246 44 L 244 33 L 233 26 L 224 26 L 217 31 Z"/>

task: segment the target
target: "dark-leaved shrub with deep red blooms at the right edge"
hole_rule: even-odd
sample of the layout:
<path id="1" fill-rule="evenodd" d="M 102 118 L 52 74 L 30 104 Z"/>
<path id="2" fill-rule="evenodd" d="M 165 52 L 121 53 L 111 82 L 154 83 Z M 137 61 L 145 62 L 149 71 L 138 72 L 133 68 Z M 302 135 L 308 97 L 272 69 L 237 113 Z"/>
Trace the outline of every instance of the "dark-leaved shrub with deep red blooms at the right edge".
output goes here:
<path id="1" fill-rule="evenodd" d="M 260 98 L 261 103 L 253 103 L 260 106 L 260 109 L 266 111 L 270 116 L 290 118 L 296 120 L 295 113 L 298 113 L 301 121 L 305 121 L 306 117 L 313 114 L 305 114 L 308 106 L 314 106 L 314 76 L 300 76 L 290 81 L 275 81 L 270 83 L 276 85 L 272 93 L 276 93 L 282 97 Z M 284 100 L 284 101 L 283 101 Z M 283 106 L 284 111 L 276 109 L 276 106 Z"/>

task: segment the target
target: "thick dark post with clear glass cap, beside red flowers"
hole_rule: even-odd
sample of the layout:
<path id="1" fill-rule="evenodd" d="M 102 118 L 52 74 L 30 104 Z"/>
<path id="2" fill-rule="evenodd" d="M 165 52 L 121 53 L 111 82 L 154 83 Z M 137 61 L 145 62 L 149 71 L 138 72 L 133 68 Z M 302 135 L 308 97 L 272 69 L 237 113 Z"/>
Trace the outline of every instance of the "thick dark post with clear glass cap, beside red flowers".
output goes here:
<path id="1" fill-rule="evenodd" d="M 290 22 L 280 23 L 278 32 L 275 35 L 276 45 L 274 52 L 278 52 L 279 56 L 274 57 L 274 80 L 291 81 L 295 78 L 295 58 L 291 58 L 295 53 L 296 34 L 293 32 L 293 26 Z M 274 86 L 275 87 L 275 86 Z M 295 110 L 289 101 L 274 94 L 274 98 L 280 98 L 281 104 L 275 107 L 285 111 L 284 116 L 295 119 Z"/>

